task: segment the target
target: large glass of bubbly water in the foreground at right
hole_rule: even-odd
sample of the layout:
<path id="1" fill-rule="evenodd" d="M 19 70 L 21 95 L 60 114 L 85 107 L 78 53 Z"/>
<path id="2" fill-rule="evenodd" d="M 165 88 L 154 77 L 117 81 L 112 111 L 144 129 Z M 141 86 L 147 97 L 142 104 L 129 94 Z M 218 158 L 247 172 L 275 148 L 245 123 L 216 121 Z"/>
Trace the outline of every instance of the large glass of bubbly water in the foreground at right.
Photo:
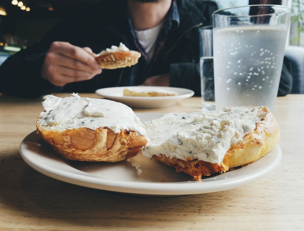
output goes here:
<path id="1" fill-rule="evenodd" d="M 290 9 L 249 5 L 213 12 L 216 108 L 265 106 L 274 110 Z"/>

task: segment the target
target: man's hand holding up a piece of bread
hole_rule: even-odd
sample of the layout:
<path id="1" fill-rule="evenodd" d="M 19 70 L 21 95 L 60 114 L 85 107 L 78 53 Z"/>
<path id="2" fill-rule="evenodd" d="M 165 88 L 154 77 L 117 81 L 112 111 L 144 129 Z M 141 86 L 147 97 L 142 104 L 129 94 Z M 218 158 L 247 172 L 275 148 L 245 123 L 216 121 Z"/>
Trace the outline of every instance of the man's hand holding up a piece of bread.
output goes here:
<path id="1" fill-rule="evenodd" d="M 56 86 L 92 79 L 100 74 L 93 52 L 88 47 L 68 42 L 53 42 L 45 57 L 41 76 Z"/>

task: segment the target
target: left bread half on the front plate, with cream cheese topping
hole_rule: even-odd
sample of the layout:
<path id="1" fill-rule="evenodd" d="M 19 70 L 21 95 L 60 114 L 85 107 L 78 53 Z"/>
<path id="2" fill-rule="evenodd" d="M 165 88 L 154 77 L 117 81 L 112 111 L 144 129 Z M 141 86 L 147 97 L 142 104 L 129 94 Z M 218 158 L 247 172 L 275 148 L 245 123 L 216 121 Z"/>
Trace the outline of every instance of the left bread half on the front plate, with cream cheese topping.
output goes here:
<path id="1" fill-rule="evenodd" d="M 126 105 L 111 100 L 80 98 L 76 95 L 67 98 L 47 96 L 45 99 L 43 102 L 45 111 L 40 114 L 36 123 L 37 134 L 64 158 L 78 161 L 122 161 L 135 156 L 140 152 L 141 147 L 147 144 L 146 137 L 139 134 L 139 132 L 145 133 L 144 128 Z M 109 105 L 112 104 L 115 107 L 109 109 Z M 102 108 L 96 110 L 96 107 Z M 115 111 L 116 107 L 118 112 Z M 77 116 L 68 118 L 69 110 L 72 111 L 71 114 Z M 109 110 L 113 110 L 114 116 L 109 114 L 107 117 L 106 113 L 109 113 Z M 121 114 L 118 117 L 121 120 L 114 118 L 119 112 Z M 67 114 L 66 117 L 64 113 Z M 130 119 L 132 116 L 138 121 Z M 128 121 L 124 122 L 124 119 Z M 91 129 L 77 125 L 73 128 L 73 123 L 77 121 L 83 121 L 79 124 L 84 123 L 87 126 L 92 124 L 93 127 Z M 100 127 L 98 121 L 102 121 Z M 107 123 L 112 129 L 115 128 L 116 132 L 104 126 Z M 130 127 L 138 128 L 138 131 L 123 129 L 128 124 Z"/>

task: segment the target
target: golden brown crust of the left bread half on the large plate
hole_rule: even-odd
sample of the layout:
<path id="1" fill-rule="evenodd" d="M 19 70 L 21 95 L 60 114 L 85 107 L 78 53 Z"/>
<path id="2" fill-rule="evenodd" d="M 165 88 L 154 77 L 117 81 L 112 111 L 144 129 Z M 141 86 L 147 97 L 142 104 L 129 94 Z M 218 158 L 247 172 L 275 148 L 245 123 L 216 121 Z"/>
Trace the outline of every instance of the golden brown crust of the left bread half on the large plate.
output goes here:
<path id="1" fill-rule="evenodd" d="M 59 155 L 78 161 L 122 161 L 136 156 L 147 143 L 145 136 L 137 135 L 136 131 L 114 133 L 107 127 L 48 131 L 37 124 L 37 134 Z"/>

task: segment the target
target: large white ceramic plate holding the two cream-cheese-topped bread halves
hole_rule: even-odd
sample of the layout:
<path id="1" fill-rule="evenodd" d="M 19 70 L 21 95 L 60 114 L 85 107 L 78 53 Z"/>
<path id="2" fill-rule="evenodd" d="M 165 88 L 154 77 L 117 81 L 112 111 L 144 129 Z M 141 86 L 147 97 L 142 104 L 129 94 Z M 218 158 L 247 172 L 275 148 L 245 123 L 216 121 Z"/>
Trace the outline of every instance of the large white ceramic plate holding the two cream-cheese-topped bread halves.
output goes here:
<path id="1" fill-rule="evenodd" d="M 161 114 L 138 113 L 137 116 L 142 121 L 148 121 Z M 20 153 L 29 166 L 57 180 L 95 189 L 149 196 L 200 194 L 237 188 L 264 177 L 279 164 L 282 157 L 281 148 L 276 145 L 271 152 L 250 165 L 193 181 L 191 176 L 175 172 L 174 167 L 141 154 L 117 163 L 67 161 L 57 155 L 36 131 L 24 138 Z M 140 167 L 140 170 L 136 167 Z"/>

